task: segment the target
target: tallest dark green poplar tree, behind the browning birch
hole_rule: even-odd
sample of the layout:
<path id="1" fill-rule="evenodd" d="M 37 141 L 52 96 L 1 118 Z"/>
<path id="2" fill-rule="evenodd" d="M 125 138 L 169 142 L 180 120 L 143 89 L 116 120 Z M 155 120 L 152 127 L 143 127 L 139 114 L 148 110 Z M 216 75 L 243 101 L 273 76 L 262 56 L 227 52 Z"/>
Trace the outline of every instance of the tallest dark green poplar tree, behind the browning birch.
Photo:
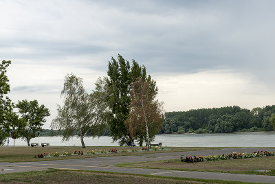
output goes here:
<path id="1" fill-rule="evenodd" d="M 122 146 L 133 139 L 125 126 L 131 102 L 130 86 L 137 77 L 146 78 L 146 68 L 138 65 L 135 60 L 130 66 L 129 61 L 118 55 L 118 60 L 112 57 L 109 61 L 107 74 L 108 96 L 106 100 L 111 109 L 108 123 L 113 141 L 119 141 Z"/>

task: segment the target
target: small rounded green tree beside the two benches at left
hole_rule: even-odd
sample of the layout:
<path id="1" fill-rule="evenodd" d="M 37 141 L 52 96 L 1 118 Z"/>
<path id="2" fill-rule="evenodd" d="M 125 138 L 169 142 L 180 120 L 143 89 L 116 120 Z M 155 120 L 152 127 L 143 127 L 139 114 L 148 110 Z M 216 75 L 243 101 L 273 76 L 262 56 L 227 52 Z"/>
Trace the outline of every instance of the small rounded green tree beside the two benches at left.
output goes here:
<path id="1" fill-rule="evenodd" d="M 37 137 L 39 131 L 42 130 L 43 123 L 46 122 L 45 117 L 50 115 L 50 110 L 43 104 L 39 106 L 37 100 L 18 101 L 16 107 L 21 114 L 21 128 L 20 136 L 27 140 L 28 146 L 30 146 L 30 139 Z M 22 126 L 24 124 L 24 126 Z"/>

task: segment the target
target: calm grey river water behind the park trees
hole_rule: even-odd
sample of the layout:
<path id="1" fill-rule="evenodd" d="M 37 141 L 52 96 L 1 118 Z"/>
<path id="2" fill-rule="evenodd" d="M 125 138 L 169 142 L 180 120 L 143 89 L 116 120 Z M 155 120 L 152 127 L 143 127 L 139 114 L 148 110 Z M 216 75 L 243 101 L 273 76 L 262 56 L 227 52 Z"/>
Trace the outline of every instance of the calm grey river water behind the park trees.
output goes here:
<path id="1" fill-rule="evenodd" d="M 183 147 L 275 147 L 275 133 L 228 133 L 228 134 L 199 134 L 199 135 L 156 135 L 154 143 L 162 142 L 163 146 Z M 86 146 L 118 146 L 112 143 L 111 137 L 86 137 Z M 62 137 L 36 137 L 30 143 L 50 143 L 50 146 L 81 146 L 80 139 L 72 137 L 62 141 Z M 6 144 L 6 143 L 5 143 Z M 10 139 L 13 145 L 13 139 Z M 15 146 L 26 146 L 22 139 L 15 140 Z"/>

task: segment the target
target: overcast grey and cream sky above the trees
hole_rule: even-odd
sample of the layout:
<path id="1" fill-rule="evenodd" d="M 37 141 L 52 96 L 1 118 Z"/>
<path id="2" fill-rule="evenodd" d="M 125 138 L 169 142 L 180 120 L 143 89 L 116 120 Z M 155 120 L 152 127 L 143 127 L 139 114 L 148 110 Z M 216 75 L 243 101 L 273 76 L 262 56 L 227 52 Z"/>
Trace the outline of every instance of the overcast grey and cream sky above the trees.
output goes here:
<path id="1" fill-rule="evenodd" d="M 275 1 L 0 1 L 10 98 L 56 116 L 64 77 L 94 89 L 118 54 L 157 81 L 166 111 L 275 102 Z"/>

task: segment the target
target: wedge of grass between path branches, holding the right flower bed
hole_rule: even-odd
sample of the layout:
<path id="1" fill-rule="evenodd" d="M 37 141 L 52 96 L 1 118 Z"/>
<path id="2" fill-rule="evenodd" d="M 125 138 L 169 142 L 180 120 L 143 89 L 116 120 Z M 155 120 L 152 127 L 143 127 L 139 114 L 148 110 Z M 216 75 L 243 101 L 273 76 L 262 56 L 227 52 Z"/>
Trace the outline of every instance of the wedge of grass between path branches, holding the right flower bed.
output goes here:
<path id="1" fill-rule="evenodd" d="M 168 161 L 151 161 L 143 163 L 118 164 L 120 167 L 157 168 L 168 170 L 196 170 L 207 172 L 228 172 L 239 174 L 275 175 L 275 157 L 258 157 L 250 159 L 231 159 L 223 161 L 203 161 L 198 163 L 183 163 L 180 159 Z M 268 172 L 257 172 L 267 170 Z"/>

